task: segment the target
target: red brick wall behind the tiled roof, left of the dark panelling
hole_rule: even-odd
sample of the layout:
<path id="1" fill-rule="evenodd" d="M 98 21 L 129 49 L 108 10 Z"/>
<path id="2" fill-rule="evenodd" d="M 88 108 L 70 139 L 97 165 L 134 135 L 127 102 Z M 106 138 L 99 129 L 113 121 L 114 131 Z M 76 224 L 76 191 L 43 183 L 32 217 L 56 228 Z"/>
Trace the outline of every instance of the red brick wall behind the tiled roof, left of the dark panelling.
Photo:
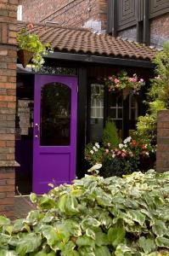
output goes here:
<path id="1" fill-rule="evenodd" d="M 65 26 L 83 26 L 87 20 L 101 21 L 106 28 L 107 0 L 20 0 L 23 20 L 42 22 L 51 20 Z"/>

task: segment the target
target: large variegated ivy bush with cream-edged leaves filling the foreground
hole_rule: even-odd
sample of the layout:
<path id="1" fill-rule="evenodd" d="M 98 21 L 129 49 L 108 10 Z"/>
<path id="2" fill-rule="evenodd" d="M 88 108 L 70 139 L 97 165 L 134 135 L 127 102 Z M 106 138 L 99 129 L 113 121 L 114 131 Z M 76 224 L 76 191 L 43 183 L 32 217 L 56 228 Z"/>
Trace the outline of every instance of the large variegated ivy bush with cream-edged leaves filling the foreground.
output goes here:
<path id="1" fill-rule="evenodd" d="M 0 218 L 0 255 L 169 255 L 169 172 L 86 176 L 31 201 L 27 218 Z"/>

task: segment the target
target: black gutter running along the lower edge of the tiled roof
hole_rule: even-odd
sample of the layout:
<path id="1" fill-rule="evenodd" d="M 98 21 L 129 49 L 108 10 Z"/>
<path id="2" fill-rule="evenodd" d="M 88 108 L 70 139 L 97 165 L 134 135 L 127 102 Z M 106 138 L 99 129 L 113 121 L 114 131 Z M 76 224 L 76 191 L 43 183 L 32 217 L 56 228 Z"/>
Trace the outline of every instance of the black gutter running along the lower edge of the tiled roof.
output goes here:
<path id="1" fill-rule="evenodd" d="M 81 55 L 54 51 L 53 53 L 48 53 L 44 56 L 48 59 L 57 59 L 62 61 L 80 61 L 85 63 L 97 63 L 97 64 L 107 64 L 116 66 L 126 66 L 126 67 L 145 67 L 154 68 L 155 64 L 151 61 L 142 60 L 132 60 L 132 59 L 122 59 L 107 56 L 97 56 L 97 55 Z"/>

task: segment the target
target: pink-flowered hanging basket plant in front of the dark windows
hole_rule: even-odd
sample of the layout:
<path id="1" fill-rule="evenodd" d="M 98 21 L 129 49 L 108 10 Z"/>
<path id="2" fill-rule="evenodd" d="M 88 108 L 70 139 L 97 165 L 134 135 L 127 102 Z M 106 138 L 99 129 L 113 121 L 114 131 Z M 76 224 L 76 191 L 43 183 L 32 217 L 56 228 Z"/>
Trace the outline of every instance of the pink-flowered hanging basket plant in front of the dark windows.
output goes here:
<path id="1" fill-rule="evenodd" d="M 144 79 L 138 79 L 138 75 L 134 73 L 132 77 L 127 72 L 121 70 L 117 75 L 112 75 L 105 80 L 110 92 L 129 89 L 132 94 L 138 94 L 138 91 L 144 86 Z"/>

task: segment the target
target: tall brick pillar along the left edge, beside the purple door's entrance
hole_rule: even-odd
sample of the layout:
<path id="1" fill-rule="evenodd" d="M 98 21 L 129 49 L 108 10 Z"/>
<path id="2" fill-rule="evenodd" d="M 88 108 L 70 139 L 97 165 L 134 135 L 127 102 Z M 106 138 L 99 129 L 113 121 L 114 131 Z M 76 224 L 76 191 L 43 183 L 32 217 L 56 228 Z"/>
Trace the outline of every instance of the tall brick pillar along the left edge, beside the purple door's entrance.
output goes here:
<path id="1" fill-rule="evenodd" d="M 18 0 L 0 0 L 0 215 L 13 217 Z"/>

